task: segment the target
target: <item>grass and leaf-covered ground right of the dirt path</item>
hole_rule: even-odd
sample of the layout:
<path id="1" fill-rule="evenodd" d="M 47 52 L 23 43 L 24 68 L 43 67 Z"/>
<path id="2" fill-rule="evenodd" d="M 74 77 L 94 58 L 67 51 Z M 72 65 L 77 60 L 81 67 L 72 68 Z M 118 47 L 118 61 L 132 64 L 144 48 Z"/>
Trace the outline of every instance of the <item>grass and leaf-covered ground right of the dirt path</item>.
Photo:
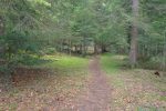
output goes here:
<path id="1" fill-rule="evenodd" d="M 165 111 L 166 78 L 152 70 L 122 69 L 124 56 L 104 54 L 101 64 L 113 88 L 111 108 L 114 111 Z"/>

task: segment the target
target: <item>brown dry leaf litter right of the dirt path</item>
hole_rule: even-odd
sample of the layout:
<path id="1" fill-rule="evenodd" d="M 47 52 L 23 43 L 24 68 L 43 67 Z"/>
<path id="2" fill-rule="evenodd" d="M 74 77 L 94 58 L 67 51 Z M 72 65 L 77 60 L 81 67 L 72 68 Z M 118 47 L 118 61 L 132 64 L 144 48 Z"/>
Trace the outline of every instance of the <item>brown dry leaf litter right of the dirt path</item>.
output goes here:
<path id="1" fill-rule="evenodd" d="M 151 78 L 151 73 L 147 77 Z M 117 75 L 108 75 L 112 90 L 113 111 L 136 111 L 136 110 L 166 110 L 166 101 L 160 100 L 160 87 L 154 80 L 148 81 L 145 75 L 137 77 L 135 71 L 121 71 Z M 115 85 L 114 81 L 123 81 L 122 85 Z"/>

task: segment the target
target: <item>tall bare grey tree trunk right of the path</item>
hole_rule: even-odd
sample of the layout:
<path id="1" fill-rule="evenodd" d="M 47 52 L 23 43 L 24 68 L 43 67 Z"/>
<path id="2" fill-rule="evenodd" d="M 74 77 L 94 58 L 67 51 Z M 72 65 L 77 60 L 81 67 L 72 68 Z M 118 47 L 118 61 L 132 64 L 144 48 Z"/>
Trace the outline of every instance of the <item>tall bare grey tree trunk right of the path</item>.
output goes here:
<path id="1" fill-rule="evenodd" d="M 132 0 L 132 11 L 133 11 L 133 27 L 132 27 L 132 38 L 131 38 L 131 51 L 129 51 L 129 62 L 132 68 L 136 67 L 137 62 L 137 18 L 138 18 L 138 0 Z"/>

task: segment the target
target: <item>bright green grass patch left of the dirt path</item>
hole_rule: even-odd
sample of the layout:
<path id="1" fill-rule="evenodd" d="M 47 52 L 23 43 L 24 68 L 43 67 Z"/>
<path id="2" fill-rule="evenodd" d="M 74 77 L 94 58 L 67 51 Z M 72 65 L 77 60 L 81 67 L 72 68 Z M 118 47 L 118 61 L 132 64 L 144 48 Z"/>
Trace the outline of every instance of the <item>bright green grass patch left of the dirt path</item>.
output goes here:
<path id="1" fill-rule="evenodd" d="M 41 63 L 40 63 L 41 61 Z M 44 62 L 43 62 L 44 61 Z M 44 56 L 31 68 L 53 69 L 53 70 L 81 70 L 87 67 L 89 59 L 72 56 Z"/>

